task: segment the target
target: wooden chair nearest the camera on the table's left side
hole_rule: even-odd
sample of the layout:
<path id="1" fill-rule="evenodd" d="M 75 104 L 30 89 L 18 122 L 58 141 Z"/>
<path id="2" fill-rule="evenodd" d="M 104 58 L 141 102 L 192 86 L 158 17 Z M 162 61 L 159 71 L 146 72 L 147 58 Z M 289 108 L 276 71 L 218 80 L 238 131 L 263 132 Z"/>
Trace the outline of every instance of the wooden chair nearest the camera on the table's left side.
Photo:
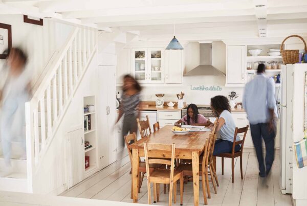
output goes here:
<path id="1" fill-rule="evenodd" d="M 131 163 L 131 168 L 132 168 L 132 150 L 128 148 L 128 146 L 130 144 L 133 144 L 135 142 L 137 142 L 137 136 L 136 133 L 133 132 L 132 134 L 128 134 L 126 136 L 124 136 L 124 140 L 125 140 L 125 144 L 128 150 L 128 154 L 129 154 L 129 158 L 130 158 L 130 163 Z M 162 167 L 162 164 L 150 164 L 149 165 L 149 170 L 153 171 L 155 169 L 158 169 L 160 167 Z M 142 182 L 144 179 L 144 174 L 146 173 L 146 164 L 145 162 L 141 162 L 139 163 L 139 179 L 138 179 L 138 192 L 140 192 L 140 189 L 142 187 Z M 132 184 L 131 184 L 131 198 L 132 198 Z"/>

